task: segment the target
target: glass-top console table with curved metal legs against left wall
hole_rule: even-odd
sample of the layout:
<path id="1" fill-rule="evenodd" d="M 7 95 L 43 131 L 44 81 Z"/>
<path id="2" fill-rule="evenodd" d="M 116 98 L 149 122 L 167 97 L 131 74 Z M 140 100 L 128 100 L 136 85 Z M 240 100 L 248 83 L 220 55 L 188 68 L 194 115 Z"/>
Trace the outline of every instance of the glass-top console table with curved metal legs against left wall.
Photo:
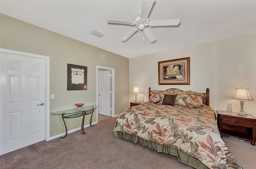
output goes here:
<path id="1" fill-rule="evenodd" d="M 65 138 L 68 135 L 68 130 L 67 130 L 67 126 L 66 126 L 64 118 L 76 118 L 76 117 L 83 116 L 83 120 L 82 120 L 82 124 L 81 124 L 81 133 L 85 134 L 86 132 L 84 132 L 84 116 L 87 115 L 87 114 L 91 114 L 90 126 L 93 127 L 94 125 L 92 125 L 92 114 L 93 114 L 94 110 L 97 107 L 98 106 L 96 104 L 94 104 L 94 105 L 91 105 L 91 106 L 81 107 L 80 110 L 78 110 L 78 108 L 73 108 L 73 109 L 69 109 L 69 110 L 62 110 L 62 111 L 58 111 L 58 112 L 52 112 L 52 114 L 54 114 L 54 115 L 61 115 L 62 120 L 64 122 L 64 125 L 65 125 L 65 128 L 66 128 L 66 134 L 65 134 L 65 136 L 61 136 L 61 138 Z"/>

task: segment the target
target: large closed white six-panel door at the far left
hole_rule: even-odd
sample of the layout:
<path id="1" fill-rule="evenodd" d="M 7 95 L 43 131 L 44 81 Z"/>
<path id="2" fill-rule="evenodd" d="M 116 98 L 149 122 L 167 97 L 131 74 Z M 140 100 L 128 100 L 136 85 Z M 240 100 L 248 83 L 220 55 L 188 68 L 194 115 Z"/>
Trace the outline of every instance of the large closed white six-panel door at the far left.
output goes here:
<path id="1" fill-rule="evenodd" d="M 0 55 L 0 155 L 45 140 L 45 59 Z"/>

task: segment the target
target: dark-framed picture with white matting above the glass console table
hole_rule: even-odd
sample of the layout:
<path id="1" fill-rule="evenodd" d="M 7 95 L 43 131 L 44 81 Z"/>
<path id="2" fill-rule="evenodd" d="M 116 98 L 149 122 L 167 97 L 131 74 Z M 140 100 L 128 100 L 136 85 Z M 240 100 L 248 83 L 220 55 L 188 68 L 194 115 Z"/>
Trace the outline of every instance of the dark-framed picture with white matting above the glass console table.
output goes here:
<path id="1" fill-rule="evenodd" d="M 87 67 L 68 64 L 68 90 L 87 90 Z"/>

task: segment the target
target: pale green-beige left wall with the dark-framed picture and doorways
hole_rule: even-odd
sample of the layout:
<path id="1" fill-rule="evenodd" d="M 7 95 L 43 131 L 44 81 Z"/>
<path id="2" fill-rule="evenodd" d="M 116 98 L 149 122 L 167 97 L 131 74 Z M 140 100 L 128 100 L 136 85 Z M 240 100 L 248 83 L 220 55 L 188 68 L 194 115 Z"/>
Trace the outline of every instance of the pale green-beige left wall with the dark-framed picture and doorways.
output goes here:
<path id="1" fill-rule="evenodd" d="M 50 57 L 50 112 L 96 104 L 96 65 L 115 69 L 115 114 L 128 107 L 129 59 L 0 14 L 0 47 Z M 97 37 L 95 37 L 97 38 Z M 67 91 L 67 64 L 88 68 L 88 89 Z M 89 116 L 85 124 L 89 124 Z M 92 122 L 96 121 L 96 114 Z M 79 128 L 81 118 L 67 119 L 68 130 Z M 50 115 L 50 136 L 65 132 L 62 118 Z"/>

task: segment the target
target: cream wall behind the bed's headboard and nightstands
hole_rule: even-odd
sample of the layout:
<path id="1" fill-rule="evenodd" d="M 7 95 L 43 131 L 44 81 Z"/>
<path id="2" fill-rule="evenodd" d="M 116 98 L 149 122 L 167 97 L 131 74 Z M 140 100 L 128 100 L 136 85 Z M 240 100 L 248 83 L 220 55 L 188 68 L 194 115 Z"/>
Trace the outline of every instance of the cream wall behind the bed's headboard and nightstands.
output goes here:
<path id="1" fill-rule="evenodd" d="M 190 57 L 190 85 L 158 85 L 158 61 Z M 141 97 L 148 100 L 152 90 L 180 88 L 205 92 L 210 88 L 210 106 L 233 112 L 240 111 L 240 100 L 231 99 L 235 88 L 249 88 L 253 101 L 244 102 L 244 111 L 256 117 L 256 33 L 200 43 L 129 60 L 130 101 L 135 99 L 132 88 L 139 86 Z"/>

